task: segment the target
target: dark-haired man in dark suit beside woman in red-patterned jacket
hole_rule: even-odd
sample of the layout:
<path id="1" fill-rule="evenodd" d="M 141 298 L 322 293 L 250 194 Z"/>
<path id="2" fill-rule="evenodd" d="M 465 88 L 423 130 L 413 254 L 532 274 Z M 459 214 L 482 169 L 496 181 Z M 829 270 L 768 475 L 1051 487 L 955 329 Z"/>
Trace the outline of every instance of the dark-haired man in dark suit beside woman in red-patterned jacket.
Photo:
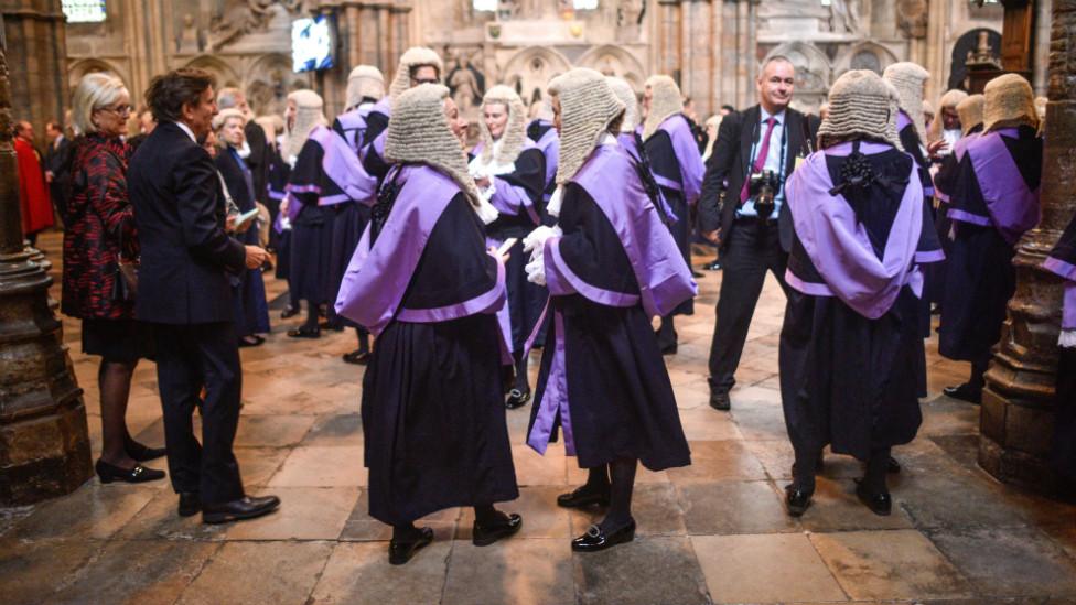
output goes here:
<path id="1" fill-rule="evenodd" d="M 275 496 L 246 496 L 232 451 L 243 368 L 228 272 L 255 269 L 268 255 L 224 230 L 225 202 L 209 154 L 198 144 L 216 114 L 213 76 L 179 69 L 146 91 L 158 127 L 127 172 L 141 244 L 136 315 L 153 324 L 164 439 L 180 515 L 206 523 L 275 510 Z M 201 398 L 205 388 L 205 399 Z M 202 411 L 202 443 L 192 415 Z"/>

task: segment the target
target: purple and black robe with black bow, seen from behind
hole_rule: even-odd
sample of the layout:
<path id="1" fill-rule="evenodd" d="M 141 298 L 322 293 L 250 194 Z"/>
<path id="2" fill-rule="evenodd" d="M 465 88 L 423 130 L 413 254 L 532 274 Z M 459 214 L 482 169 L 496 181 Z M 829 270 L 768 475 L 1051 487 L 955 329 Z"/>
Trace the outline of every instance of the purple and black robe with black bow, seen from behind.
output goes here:
<path id="1" fill-rule="evenodd" d="M 778 368 L 799 460 L 827 444 L 867 460 L 910 442 L 922 423 L 917 166 L 891 145 L 861 142 L 879 180 L 831 195 L 851 148 L 811 154 L 785 190 L 795 234 Z"/>

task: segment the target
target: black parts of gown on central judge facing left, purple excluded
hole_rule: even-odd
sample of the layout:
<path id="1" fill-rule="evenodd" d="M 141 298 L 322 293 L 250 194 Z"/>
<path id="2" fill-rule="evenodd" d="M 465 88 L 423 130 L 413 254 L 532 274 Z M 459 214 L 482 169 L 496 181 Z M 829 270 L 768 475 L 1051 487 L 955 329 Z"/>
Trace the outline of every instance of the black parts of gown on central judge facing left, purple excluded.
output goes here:
<path id="1" fill-rule="evenodd" d="M 577 276 L 603 290 L 638 294 L 624 242 L 587 190 L 564 186 L 560 252 Z M 581 294 L 552 296 L 535 401 L 542 401 L 556 343 L 564 342 L 568 400 L 579 466 L 637 458 L 650 471 L 691 464 L 657 337 L 641 304 L 609 306 Z M 563 331 L 563 334 L 559 334 Z M 528 435 L 540 406 L 532 406 Z M 553 425 L 556 435 L 558 421 Z"/>

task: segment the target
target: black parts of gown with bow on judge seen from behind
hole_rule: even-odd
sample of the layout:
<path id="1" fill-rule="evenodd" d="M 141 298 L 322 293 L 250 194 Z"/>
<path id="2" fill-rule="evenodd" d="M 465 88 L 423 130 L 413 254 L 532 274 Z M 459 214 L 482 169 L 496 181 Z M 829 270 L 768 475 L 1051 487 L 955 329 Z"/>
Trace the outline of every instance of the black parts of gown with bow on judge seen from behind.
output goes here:
<path id="1" fill-rule="evenodd" d="M 844 195 L 859 206 L 857 214 L 874 253 L 882 258 L 912 159 L 895 149 L 867 158 L 875 174 L 891 184 L 875 184 L 865 195 Z M 826 158 L 835 183 L 842 180 L 846 161 Z M 788 271 L 807 282 L 825 282 L 798 236 Z M 817 455 L 829 444 L 836 453 L 865 461 L 872 450 L 915 439 L 923 420 L 917 397 L 924 378 L 918 313 L 918 299 L 908 285 L 878 320 L 860 315 L 836 296 L 788 289 L 778 356 L 781 399 L 788 436 L 800 455 Z"/>

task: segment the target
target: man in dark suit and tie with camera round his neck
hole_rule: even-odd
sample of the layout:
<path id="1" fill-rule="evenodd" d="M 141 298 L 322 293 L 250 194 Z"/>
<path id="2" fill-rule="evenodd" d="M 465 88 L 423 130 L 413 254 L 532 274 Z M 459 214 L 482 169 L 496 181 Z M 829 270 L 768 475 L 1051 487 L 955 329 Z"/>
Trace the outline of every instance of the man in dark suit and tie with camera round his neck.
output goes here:
<path id="1" fill-rule="evenodd" d="M 793 226 L 782 208 L 784 183 L 797 159 L 814 149 L 818 130 L 817 119 L 788 107 L 795 78 L 787 58 L 767 60 L 756 82 L 758 105 L 721 121 L 707 161 L 699 226 L 719 245 L 724 271 L 710 346 L 710 406 L 717 410 L 730 409 L 729 391 L 766 272 L 785 288 Z M 750 175 L 762 179 L 752 183 Z"/>

